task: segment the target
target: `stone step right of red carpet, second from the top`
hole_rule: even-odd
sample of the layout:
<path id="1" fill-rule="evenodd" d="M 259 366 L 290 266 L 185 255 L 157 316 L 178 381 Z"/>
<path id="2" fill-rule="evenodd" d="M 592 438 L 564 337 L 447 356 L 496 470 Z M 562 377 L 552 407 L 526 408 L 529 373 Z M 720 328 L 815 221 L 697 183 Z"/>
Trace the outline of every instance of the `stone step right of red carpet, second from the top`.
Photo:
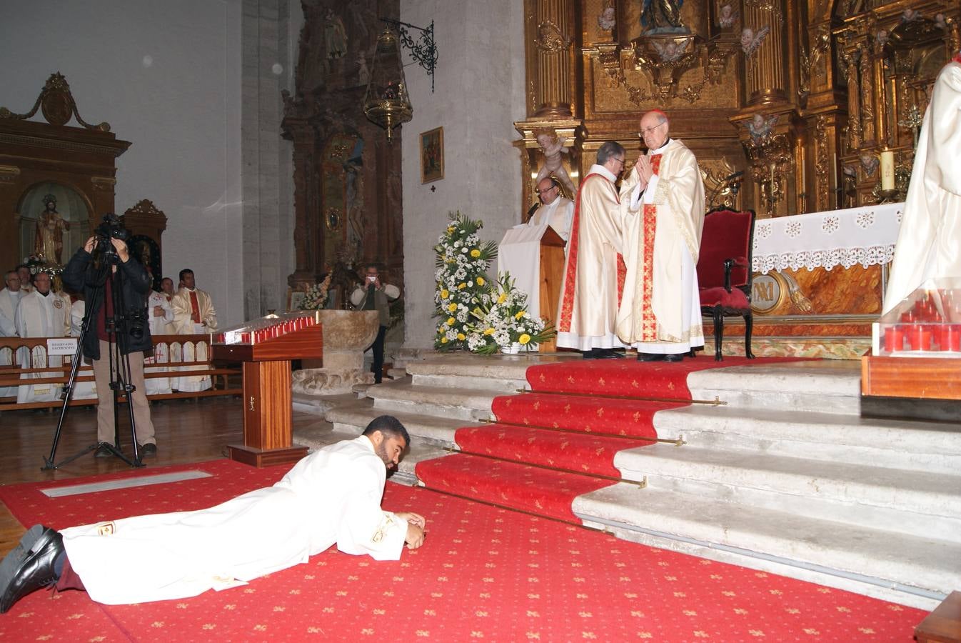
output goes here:
<path id="1" fill-rule="evenodd" d="M 704 407 L 654 415 L 661 437 L 683 435 L 694 447 L 753 451 L 950 475 L 961 471 L 956 425 L 867 419 L 839 413 Z"/>

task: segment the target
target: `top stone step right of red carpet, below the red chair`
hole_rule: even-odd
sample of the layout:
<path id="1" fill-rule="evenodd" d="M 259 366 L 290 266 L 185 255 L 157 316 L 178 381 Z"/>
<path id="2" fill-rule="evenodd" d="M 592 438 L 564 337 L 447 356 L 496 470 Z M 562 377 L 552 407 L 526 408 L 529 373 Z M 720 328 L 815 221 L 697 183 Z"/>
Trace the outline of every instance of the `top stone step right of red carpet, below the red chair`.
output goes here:
<path id="1" fill-rule="evenodd" d="M 687 376 L 687 387 L 695 400 L 717 396 L 736 408 L 846 415 L 858 415 L 861 408 L 861 371 L 856 360 L 801 360 L 695 371 Z"/>

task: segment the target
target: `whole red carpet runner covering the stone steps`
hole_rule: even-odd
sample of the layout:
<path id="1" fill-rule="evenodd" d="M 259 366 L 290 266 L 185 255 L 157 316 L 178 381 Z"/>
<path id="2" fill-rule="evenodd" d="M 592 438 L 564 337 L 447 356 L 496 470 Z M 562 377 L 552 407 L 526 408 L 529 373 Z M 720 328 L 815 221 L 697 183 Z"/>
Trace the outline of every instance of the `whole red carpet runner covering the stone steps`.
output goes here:
<path id="1" fill-rule="evenodd" d="M 617 452 L 654 444 L 658 437 L 678 438 L 658 436 L 653 416 L 690 404 L 689 373 L 790 360 L 702 357 L 677 363 L 605 359 L 534 365 L 527 371 L 534 392 L 495 398 L 497 423 L 458 429 L 461 453 L 418 462 L 415 473 L 438 491 L 580 524 L 571 509 L 574 499 L 620 480 Z"/>

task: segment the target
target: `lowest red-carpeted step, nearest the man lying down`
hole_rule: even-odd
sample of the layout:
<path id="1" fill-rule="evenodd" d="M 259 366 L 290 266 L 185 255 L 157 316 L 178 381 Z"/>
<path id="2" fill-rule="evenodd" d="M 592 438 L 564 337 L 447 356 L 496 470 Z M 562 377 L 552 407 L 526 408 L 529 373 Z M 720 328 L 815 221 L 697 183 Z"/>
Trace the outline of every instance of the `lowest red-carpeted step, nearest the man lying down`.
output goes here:
<path id="1" fill-rule="evenodd" d="M 421 482 L 438 491 L 577 524 L 580 519 L 571 510 L 574 499 L 613 484 L 467 454 L 418 462 L 414 472 Z"/>

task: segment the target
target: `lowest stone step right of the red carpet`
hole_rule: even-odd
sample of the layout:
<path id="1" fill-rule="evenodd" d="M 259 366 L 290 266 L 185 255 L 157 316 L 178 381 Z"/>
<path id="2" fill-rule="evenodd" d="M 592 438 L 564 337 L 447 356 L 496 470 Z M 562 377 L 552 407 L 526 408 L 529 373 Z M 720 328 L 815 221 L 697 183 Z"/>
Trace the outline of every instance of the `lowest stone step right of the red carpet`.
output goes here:
<path id="1" fill-rule="evenodd" d="M 930 609 L 957 587 L 961 545 L 793 511 L 741 507 L 668 489 L 615 484 L 579 496 L 588 527 L 696 556 L 766 569 Z"/>

